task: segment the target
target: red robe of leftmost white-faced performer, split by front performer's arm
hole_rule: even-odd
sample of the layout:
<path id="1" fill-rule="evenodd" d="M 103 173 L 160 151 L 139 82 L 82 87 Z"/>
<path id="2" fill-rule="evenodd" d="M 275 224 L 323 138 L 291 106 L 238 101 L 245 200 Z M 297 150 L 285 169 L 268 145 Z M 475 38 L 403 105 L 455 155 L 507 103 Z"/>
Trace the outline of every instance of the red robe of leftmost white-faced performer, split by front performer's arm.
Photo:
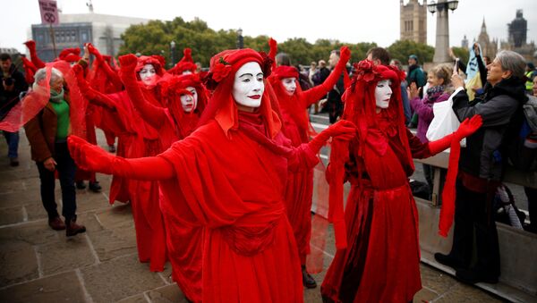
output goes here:
<path id="1" fill-rule="evenodd" d="M 144 97 L 158 105 L 153 89 L 142 88 Z M 156 156 L 163 147 L 159 133 L 143 122 L 126 91 L 107 96 L 99 95 L 101 103 L 108 102 L 115 110 L 103 107 L 99 128 L 110 130 L 118 136 L 117 155 L 126 158 Z M 110 203 L 116 199 L 130 200 L 132 218 L 136 229 L 138 257 L 141 262 L 150 262 L 152 272 L 161 272 L 166 263 L 166 232 L 158 203 L 157 181 L 136 181 L 114 177 L 110 186 Z"/>

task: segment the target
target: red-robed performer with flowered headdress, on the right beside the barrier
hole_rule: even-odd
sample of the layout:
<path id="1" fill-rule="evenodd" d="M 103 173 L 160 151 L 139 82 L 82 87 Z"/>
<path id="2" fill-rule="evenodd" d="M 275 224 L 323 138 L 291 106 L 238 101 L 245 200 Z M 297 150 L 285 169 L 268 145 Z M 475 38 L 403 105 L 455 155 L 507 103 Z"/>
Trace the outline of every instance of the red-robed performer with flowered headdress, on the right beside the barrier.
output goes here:
<path id="1" fill-rule="evenodd" d="M 453 134 L 424 144 L 405 128 L 399 91 L 404 72 L 369 60 L 354 68 L 342 121 L 354 122 L 358 133 L 348 145 L 332 143 L 328 219 L 334 223 L 338 249 L 321 294 L 325 302 L 409 302 L 422 288 L 418 212 L 408 184 L 413 157 L 459 145 L 481 120 L 465 121 Z M 344 181 L 351 183 L 345 215 Z M 446 206 L 449 203 L 440 215 L 441 234 L 453 220 Z"/>

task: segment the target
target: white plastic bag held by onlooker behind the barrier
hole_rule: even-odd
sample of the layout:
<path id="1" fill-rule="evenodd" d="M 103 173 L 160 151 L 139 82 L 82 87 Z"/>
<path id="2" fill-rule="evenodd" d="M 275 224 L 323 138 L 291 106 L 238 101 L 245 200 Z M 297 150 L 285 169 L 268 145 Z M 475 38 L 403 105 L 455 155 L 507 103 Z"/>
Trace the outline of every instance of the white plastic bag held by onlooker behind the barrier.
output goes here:
<path id="1" fill-rule="evenodd" d="M 458 129 L 459 125 L 461 124 L 451 108 L 453 106 L 454 94 L 452 94 L 446 101 L 432 105 L 434 118 L 432 118 L 429 129 L 427 130 L 427 134 L 425 135 L 430 141 L 444 138 Z M 461 147 L 465 146 L 466 139 L 462 139 Z"/>

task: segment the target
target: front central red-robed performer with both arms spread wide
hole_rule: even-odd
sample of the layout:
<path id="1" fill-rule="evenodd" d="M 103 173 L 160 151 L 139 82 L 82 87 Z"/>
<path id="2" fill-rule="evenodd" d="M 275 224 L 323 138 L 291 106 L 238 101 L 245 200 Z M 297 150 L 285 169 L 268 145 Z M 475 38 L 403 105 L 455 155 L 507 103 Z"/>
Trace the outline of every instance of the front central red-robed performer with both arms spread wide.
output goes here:
<path id="1" fill-rule="evenodd" d="M 264 80 L 270 61 L 248 48 L 215 55 L 208 81 L 214 94 L 200 128 L 161 155 L 124 159 L 69 139 L 83 167 L 160 180 L 167 223 L 204 227 L 204 302 L 303 301 L 284 205 L 287 171 L 310 169 L 327 139 L 348 140 L 355 133 L 351 122 L 338 122 L 310 143 L 292 147 Z"/>

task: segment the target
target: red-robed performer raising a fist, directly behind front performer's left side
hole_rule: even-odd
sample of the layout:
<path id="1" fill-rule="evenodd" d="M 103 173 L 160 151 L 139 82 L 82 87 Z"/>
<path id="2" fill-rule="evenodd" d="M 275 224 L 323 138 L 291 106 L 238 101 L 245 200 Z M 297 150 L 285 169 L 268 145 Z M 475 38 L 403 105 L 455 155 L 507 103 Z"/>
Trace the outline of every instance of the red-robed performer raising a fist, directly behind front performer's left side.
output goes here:
<path id="1" fill-rule="evenodd" d="M 143 120 L 158 130 L 163 148 L 170 147 L 179 139 L 184 139 L 196 129 L 207 105 L 207 89 L 200 82 L 198 74 L 173 76 L 159 82 L 161 96 L 167 107 L 151 105 L 143 97 L 136 80 L 134 55 L 123 55 L 121 63 L 122 80 L 132 104 Z M 158 206 L 166 206 L 165 195 L 160 195 Z M 201 246 L 203 227 L 191 224 L 173 223 L 174 218 L 163 212 L 166 227 L 168 258 L 172 263 L 172 277 L 183 290 L 184 295 L 194 302 L 201 300 Z"/>

